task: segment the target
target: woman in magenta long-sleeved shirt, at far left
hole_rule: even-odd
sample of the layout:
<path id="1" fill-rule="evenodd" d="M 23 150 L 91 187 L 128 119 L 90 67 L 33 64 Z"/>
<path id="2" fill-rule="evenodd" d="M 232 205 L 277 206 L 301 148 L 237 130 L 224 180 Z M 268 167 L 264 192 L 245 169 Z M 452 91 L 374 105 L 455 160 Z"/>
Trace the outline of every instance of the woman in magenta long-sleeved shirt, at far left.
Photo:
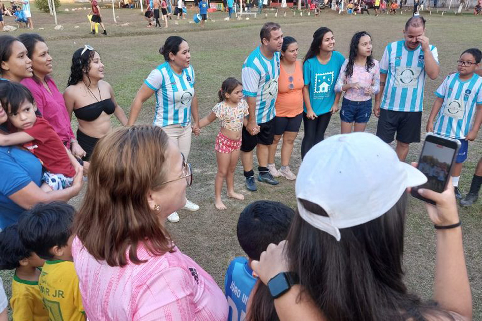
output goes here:
<path id="1" fill-rule="evenodd" d="M 49 47 L 37 34 L 22 34 L 19 40 L 27 48 L 27 56 L 32 60 L 33 69 L 33 76 L 24 78 L 21 83 L 30 90 L 37 110 L 54 128 L 64 145 L 72 150 L 74 156 L 82 158 L 85 156 L 85 151 L 75 139 L 64 97 L 49 76 L 52 73 Z"/>

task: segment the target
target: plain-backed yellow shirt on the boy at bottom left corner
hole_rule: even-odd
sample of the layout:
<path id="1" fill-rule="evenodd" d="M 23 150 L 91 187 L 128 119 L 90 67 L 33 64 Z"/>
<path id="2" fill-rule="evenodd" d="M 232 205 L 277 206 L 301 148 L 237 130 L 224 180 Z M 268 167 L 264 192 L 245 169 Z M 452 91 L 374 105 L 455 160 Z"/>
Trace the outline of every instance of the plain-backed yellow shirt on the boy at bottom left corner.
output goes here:
<path id="1" fill-rule="evenodd" d="M 25 281 L 14 274 L 10 306 L 14 321 L 49 321 L 49 313 L 40 296 L 39 282 Z"/>

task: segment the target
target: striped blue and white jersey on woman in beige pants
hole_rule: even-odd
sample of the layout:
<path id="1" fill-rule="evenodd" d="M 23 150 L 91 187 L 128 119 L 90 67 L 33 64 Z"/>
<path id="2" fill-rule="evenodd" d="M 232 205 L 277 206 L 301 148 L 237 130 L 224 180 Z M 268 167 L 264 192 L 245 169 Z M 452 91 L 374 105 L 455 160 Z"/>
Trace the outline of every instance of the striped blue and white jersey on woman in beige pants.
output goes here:
<path id="1" fill-rule="evenodd" d="M 187 126 L 191 122 L 194 79 L 191 65 L 182 70 L 182 75 L 176 74 L 168 62 L 151 71 L 144 83 L 156 92 L 155 126 Z"/>

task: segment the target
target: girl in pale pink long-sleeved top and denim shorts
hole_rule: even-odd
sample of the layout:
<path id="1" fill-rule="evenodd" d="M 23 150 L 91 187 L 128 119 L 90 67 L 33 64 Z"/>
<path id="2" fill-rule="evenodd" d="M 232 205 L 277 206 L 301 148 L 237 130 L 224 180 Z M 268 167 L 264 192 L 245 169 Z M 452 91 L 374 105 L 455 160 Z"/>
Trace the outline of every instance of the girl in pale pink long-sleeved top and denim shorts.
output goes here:
<path id="1" fill-rule="evenodd" d="M 350 56 L 341 66 L 335 91 L 344 91 L 341 133 L 365 131 L 372 114 L 372 95 L 380 91 L 380 66 L 372 58 L 372 37 L 360 31 L 351 38 Z"/>

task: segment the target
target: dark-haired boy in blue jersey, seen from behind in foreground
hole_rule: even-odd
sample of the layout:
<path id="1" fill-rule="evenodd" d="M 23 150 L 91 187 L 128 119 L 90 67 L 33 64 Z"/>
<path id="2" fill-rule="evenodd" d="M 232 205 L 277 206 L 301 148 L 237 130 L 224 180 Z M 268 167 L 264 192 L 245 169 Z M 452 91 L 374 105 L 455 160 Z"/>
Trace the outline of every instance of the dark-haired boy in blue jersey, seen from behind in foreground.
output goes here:
<path id="1" fill-rule="evenodd" d="M 237 239 L 248 259 L 236 257 L 226 272 L 224 289 L 229 304 L 228 321 L 245 319 L 246 303 L 258 279 L 250 267 L 251 261 L 259 260 L 261 252 L 270 243 L 278 244 L 286 239 L 294 214 L 291 208 L 280 202 L 256 201 L 239 215 Z M 266 290 L 263 283 L 257 288 Z"/>

